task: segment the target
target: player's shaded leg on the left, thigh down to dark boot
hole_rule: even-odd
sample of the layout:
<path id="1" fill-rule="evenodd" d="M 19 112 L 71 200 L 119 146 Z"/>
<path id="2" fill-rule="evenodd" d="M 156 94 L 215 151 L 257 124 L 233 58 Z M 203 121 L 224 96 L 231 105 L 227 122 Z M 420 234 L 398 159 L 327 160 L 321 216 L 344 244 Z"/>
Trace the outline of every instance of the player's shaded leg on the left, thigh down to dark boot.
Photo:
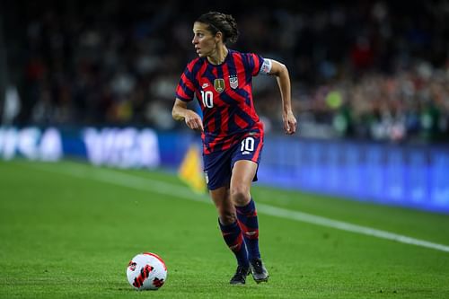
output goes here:
<path id="1" fill-rule="evenodd" d="M 235 207 L 229 194 L 229 186 L 220 187 L 209 191 L 218 213 L 218 224 L 223 238 L 229 249 L 233 251 L 237 259 L 237 270 L 231 278 L 233 285 L 245 284 L 246 277 L 250 273 L 250 262 L 245 242 L 243 241 L 242 230 L 237 223 Z"/>

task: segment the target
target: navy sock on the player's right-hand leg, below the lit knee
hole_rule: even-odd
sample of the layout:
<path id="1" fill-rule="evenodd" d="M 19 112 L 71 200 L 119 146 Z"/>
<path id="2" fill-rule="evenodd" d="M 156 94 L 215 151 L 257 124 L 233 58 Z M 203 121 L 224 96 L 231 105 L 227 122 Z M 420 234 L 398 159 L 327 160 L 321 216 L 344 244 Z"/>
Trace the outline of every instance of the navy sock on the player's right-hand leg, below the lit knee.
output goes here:
<path id="1" fill-rule="evenodd" d="M 257 220 L 257 211 L 254 200 L 243 207 L 235 207 L 237 210 L 237 219 L 242 229 L 243 238 L 248 249 L 249 259 L 260 259 L 259 251 L 259 223 Z"/>

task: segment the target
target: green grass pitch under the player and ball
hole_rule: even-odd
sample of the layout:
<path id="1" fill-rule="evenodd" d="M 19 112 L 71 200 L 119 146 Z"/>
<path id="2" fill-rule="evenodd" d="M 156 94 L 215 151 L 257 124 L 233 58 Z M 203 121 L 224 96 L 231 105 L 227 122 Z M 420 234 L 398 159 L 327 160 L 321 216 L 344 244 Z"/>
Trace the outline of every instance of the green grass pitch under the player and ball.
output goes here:
<path id="1" fill-rule="evenodd" d="M 14 161 L 0 162 L 0 178 L 2 298 L 449 298 L 449 252 L 288 213 L 445 246 L 449 215 L 256 185 L 260 250 L 271 277 L 230 286 L 235 262 L 215 207 L 173 174 Z M 274 215 L 273 207 L 290 212 Z M 142 251 L 167 264 L 159 291 L 128 285 L 128 260 Z"/>

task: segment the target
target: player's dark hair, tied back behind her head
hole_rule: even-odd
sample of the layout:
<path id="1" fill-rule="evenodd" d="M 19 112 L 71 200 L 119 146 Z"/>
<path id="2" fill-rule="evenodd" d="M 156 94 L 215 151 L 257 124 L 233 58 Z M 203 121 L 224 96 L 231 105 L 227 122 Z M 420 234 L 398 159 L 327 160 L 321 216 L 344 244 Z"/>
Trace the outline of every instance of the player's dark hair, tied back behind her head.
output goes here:
<path id="1" fill-rule="evenodd" d="M 204 13 L 197 19 L 197 22 L 202 22 L 208 25 L 208 30 L 212 34 L 220 31 L 223 33 L 223 42 L 234 43 L 239 38 L 239 30 L 237 22 L 231 14 L 210 12 Z"/>

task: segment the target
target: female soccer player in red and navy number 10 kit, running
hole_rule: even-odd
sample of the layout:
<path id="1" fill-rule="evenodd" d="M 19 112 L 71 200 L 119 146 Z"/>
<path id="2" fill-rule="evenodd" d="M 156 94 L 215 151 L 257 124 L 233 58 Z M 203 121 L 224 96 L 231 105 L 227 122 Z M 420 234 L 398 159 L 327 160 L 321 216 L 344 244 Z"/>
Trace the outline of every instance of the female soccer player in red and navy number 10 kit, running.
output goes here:
<path id="1" fill-rule="evenodd" d="M 201 131 L 207 188 L 223 238 L 238 263 L 230 283 L 243 285 L 250 273 L 257 283 L 269 279 L 260 259 L 259 224 L 250 193 L 263 145 L 263 126 L 252 102 L 252 76 L 276 75 L 286 134 L 295 133 L 296 119 L 286 66 L 227 48 L 238 35 L 230 14 L 205 13 L 194 22 L 192 44 L 198 57 L 180 76 L 172 116 Z M 194 94 L 203 119 L 187 108 Z"/>

